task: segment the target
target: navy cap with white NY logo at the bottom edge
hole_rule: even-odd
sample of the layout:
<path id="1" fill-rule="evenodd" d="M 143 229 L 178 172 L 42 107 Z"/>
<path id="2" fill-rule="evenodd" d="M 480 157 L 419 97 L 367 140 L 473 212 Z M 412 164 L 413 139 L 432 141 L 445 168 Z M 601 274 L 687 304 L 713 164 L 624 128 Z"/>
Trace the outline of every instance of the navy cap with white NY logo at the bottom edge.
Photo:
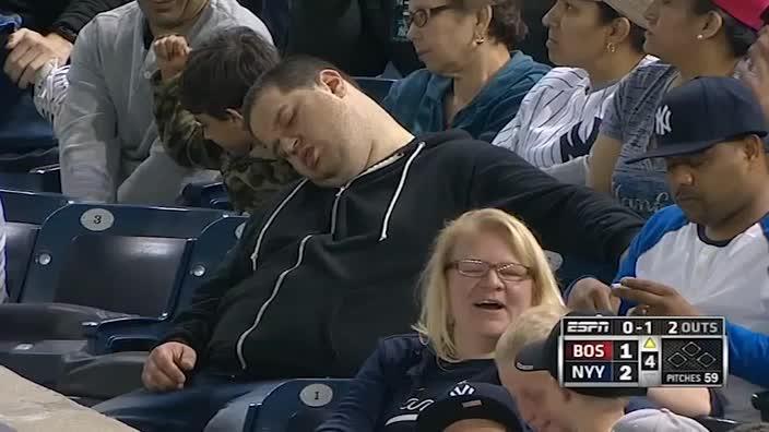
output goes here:
<path id="1" fill-rule="evenodd" d="M 496 421 L 508 432 L 523 431 L 516 403 L 505 387 L 464 382 L 419 412 L 416 432 L 442 432 L 458 421 L 471 419 Z"/>

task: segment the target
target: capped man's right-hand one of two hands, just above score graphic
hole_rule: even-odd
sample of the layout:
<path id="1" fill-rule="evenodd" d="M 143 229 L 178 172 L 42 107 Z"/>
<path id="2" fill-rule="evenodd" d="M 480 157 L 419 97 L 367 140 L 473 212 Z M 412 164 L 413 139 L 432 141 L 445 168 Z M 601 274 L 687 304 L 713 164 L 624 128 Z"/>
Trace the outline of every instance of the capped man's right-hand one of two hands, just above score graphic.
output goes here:
<path id="1" fill-rule="evenodd" d="M 612 295 L 635 301 L 646 315 L 650 316 L 697 316 L 699 311 L 684 299 L 675 289 L 646 279 L 626 277 L 622 286 L 614 288 Z"/>

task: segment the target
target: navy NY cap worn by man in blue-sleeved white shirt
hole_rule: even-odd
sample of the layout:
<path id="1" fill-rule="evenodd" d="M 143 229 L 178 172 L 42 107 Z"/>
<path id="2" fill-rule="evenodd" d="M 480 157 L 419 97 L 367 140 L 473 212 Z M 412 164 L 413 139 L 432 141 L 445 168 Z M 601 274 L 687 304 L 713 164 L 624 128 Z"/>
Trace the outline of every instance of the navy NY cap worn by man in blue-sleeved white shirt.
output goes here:
<path id="1" fill-rule="evenodd" d="M 697 77 L 665 95 L 654 113 L 655 147 L 627 164 L 699 153 L 752 134 L 767 135 L 753 91 L 733 77 Z"/>

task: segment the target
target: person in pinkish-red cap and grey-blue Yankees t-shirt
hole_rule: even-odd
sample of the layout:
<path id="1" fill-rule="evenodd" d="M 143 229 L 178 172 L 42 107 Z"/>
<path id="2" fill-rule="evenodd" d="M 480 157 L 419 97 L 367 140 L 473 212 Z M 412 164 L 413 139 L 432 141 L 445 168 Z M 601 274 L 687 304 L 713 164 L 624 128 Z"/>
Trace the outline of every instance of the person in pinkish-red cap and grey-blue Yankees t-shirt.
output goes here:
<path id="1" fill-rule="evenodd" d="M 670 128 L 658 106 L 669 89 L 703 76 L 737 76 L 769 0 L 654 0 L 644 48 L 661 61 L 639 68 L 617 89 L 590 158 L 588 183 L 644 217 L 673 203 L 659 159 L 644 153 L 654 128 Z"/>

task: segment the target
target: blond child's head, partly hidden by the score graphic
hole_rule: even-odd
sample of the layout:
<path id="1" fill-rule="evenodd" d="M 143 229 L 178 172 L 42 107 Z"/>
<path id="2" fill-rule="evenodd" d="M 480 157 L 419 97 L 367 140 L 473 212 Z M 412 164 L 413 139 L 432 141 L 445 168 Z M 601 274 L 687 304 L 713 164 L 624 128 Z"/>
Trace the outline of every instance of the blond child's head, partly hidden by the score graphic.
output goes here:
<path id="1" fill-rule="evenodd" d="M 611 389 L 577 393 L 560 387 L 556 380 L 558 337 L 565 312 L 552 305 L 525 311 L 505 332 L 495 353 L 505 387 L 523 419 L 537 431 L 570 431 L 599 418 L 618 418 L 627 404 Z"/>

